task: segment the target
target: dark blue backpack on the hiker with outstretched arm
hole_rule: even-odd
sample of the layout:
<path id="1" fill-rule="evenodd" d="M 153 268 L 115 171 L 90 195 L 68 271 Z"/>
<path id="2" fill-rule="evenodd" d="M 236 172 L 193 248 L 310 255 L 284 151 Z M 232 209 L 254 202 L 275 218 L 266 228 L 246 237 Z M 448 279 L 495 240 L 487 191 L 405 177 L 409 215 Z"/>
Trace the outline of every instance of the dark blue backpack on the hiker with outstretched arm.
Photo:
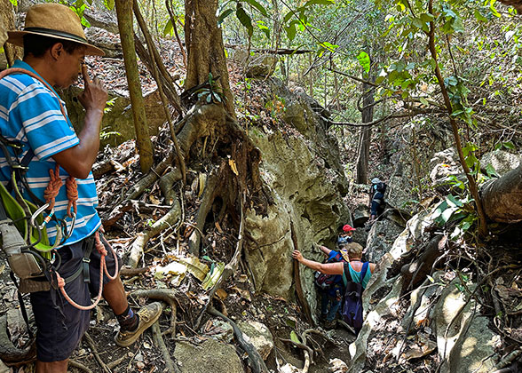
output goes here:
<path id="1" fill-rule="evenodd" d="M 362 328 L 362 279 L 368 272 L 369 263 L 365 262 L 360 270 L 360 282 L 353 282 L 352 274 L 350 274 L 349 263 L 344 263 L 343 281 L 346 286 L 344 291 L 343 303 L 343 320 L 350 325 L 357 333 Z M 350 281 L 347 280 L 346 274 L 350 275 Z"/>

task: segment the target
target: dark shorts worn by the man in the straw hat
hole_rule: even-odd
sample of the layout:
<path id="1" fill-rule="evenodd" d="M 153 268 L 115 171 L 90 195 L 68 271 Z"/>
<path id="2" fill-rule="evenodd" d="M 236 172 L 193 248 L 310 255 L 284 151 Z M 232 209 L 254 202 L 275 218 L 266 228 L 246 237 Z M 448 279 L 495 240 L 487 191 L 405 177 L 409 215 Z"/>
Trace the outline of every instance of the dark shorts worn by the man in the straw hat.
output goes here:
<path id="1" fill-rule="evenodd" d="M 75 274 L 78 267 L 82 266 L 83 250 L 88 242 L 93 242 L 93 240 L 87 238 L 58 250 L 61 257 L 58 272 L 61 277 L 65 279 Z M 107 242 L 105 240 L 102 242 L 108 253 L 105 259 L 107 270 L 109 274 L 113 275 L 115 259 Z M 67 282 L 65 286 L 67 295 L 82 306 L 91 305 L 91 296 L 96 297 L 99 292 L 100 255 L 94 247 L 90 258 L 91 282 L 84 282 L 84 276 L 80 274 L 74 281 Z M 109 282 L 106 274 L 104 274 L 103 282 L 104 284 Z M 54 291 L 56 297 L 51 297 L 51 291 Z M 30 296 L 37 328 L 36 358 L 44 362 L 66 360 L 75 351 L 83 333 L 89 328 L 91 311 L 82 311 L 71 306 L 59 290 L 38 291 L 31 293 Z M 55 298 L 56 306 L 53 305 L 52 298 Z"/>

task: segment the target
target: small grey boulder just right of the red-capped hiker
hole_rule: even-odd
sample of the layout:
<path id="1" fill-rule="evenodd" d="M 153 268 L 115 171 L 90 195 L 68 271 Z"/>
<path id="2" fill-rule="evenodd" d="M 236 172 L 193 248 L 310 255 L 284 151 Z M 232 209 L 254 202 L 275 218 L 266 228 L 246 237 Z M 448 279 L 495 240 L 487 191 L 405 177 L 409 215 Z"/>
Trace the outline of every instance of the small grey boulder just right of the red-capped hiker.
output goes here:
<path id="1" fill-rule="evenodd" d="M 392 249 L 393 242 L 403 230 L 403 226 L 398 226 L 390 220 L 376 221 L 368 234 L 368 261 L 376 263 L 383 258 L 384 254 Z"/>

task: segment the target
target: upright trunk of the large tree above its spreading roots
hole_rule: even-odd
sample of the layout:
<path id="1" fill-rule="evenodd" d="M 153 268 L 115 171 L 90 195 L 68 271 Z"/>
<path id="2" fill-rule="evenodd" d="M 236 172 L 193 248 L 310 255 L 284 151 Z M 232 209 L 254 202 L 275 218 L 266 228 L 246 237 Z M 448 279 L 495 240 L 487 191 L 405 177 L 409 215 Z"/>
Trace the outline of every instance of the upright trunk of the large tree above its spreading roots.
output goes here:
<path id="1" fill-rule="evenodd" d="M 221 28 L 218 28 L 218 0 L 185 0 L 185 42 L 187 71 L 185 90 L 209 81 L 209 73 L 223 91 L 225 109 L 235 117 L 233 95 L 228 83 L 225 45 Z"/>

